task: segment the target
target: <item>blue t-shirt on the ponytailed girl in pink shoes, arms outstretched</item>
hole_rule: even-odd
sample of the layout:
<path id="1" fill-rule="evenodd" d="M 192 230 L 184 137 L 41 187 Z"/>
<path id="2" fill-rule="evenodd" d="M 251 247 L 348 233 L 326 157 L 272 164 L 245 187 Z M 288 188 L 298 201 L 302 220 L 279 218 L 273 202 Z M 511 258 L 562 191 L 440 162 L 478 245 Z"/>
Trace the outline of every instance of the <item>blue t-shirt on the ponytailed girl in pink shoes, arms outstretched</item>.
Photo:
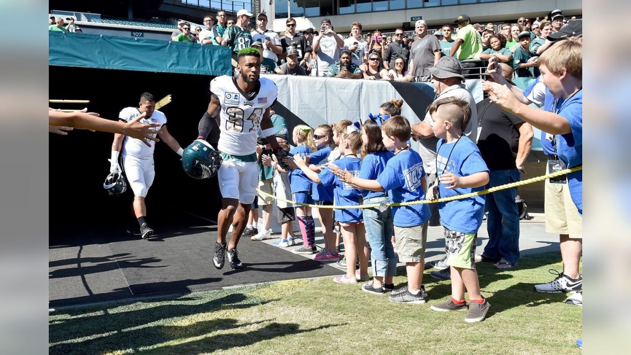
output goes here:
<path id="1" fill-rule="evenodd" d="M 355 157 L 343 157 L 336 160 L 335 165 L 338 165 L 339 169 L 348 170 L 353 176 L 359 176 L 361 160 Z M 333 197 L 334 205 L 359 205 L 360 190 L 353 188 L 347 183 L 339 181 L 338 177 L 333 174 L 327 167 L 318 174 L 320 181 L 324 186 L 334 186 Z M 359 208 L 344 208 L 335 209 L 335 220 L 343 223 L 362 222 L 362 210 Z"/>

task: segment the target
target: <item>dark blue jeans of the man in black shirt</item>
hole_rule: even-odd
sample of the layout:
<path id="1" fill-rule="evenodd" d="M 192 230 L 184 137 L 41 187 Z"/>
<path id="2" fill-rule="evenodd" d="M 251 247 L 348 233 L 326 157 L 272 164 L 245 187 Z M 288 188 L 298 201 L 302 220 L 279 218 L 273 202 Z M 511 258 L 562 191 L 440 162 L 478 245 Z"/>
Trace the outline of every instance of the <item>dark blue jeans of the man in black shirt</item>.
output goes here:
<path id="1" fill-rule="evenodd" d="M 492 170 L 487 188 L 521 180 L 517 169 Z M 490 259 L 504 258 L 516 263 L 519 260 L 519 210 L 515 197 L 517 188 L 495 191 L 487 195 L 485 209 L 488 212 L 488 243 L 484 256 Z"/>

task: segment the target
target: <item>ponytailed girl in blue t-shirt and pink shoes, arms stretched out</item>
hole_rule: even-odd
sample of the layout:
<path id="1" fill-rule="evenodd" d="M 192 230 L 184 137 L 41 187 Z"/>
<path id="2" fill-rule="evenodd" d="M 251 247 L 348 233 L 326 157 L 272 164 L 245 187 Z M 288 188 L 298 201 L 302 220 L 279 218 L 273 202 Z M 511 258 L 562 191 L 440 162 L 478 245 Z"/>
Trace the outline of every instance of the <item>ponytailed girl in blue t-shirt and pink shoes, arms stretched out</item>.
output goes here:
<path id="1" fill-rule="evenodd" d="M 345 169 L 357 176 L 360 171 L 360 159 L 358 158 L 358 150 L 362 147 L 362 137 L 359 132 L 351 131 L 351 133 L 343 134 L 339 137 L 339 153 L 344 157 L 335 161 L 335 164 L 329 163 L 329 166 L 335 166 L 334 169 Z M 353 188 L 349 184 L 342 183 L 329 170 L 322 170 L 317 174 L 307 169 L 304 159 L 295 157 L 296 165 L 302 167 L 307 176 L 316 183 L 322 183 L 325 186 L 334 186 L 333 196 L 335 205 L 359 205 L 361 192 L 357 188 Z M 368 258 L 369 251 L 366 245 L 365 230 L 363 227 L 362 210 L 359 208 L 343 208 L 335 210 L 335 220 L 339 222 L 341 227 L 342 238 L 346 248 L 346 275 L 334 277 L 335 282 L 341 284 L 357 283 L 355 274 L 355 263 L 359 254 L 360 271 L 359 277 L 362 280 L 368 280 Z"/>

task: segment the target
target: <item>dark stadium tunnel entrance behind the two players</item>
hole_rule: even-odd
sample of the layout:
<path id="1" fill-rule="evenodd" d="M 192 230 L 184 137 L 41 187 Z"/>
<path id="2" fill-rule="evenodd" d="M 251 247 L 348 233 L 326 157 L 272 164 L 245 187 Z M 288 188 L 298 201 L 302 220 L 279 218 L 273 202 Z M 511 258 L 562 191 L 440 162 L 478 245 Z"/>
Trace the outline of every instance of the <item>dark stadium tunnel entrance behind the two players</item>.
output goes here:
<path id="1" fill-rule="evenodd" d="M 60 109 L 83 109 L 101 117 L 118 119 L 124 107 L 138 107 L 143 92 L 156 102 L 172 95 L 160 111 L 167 128 L 182 148 L 198 135 L 199 119 L 206 111 L 209 82 L 214 76 L 155 73 L 112 69 L 49 66 L 49 99 L 90 100 L 90 104 L 49 104 Z M 61 84 L 61 85 L 60 85 Z M 125 231 L 133 220 L 129 187 L 118 197 L 108 196 L 103 181 L 109 174 L 112 133 L 81 129 L 67 136 L 49 134 L 49 231 L 56 236 L 103 229 Z M 217 178 L 196 180 L 186 175 L 180 157 L 165 143 L 154 153 L 155 181 L 146 198 L 148 220 L 200 226 L 214 224 L 221 207 Z M 203 217 L 191 218 L 191 214 Z M 51 243 L 54 244 L 54 243 Z"/>

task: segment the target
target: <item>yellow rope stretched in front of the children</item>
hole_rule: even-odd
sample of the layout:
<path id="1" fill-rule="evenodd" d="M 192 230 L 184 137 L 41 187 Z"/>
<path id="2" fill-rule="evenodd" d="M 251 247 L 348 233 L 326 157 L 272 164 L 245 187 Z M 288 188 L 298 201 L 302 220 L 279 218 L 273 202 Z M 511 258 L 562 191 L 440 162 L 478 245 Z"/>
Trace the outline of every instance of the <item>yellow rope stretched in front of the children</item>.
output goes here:
<path id="1" fill-rule="evenodd" d="M 495 191 L 515 188 L 517 186 L 524 186 L 524 185 L 528 185 L 528 184 L 532 184 L 532 183 L 538 183 L 539 181 L 544 181 L 544 180 L 550 179 L 550 178 L 557 178 L 557 176 L 562 176 L 562 175 L 565 175 L 565 174 L 569 174 L 570 172 L 575 172 L 575 171 L 579 171 L 579 170 L 582 170 L 582 169 L 583 169 L 583 165 L 577 165 L 575 167 L 571 167 L 570 169 L 564 169 L 564 170 L 557 171 L 557 172 L 551 172 L 550 174 L 537 176 L 536 178 L 531 178 L 531 179 L 526 179 L 526 180 L 522 180 L 522 181 L 517 181 L 516 183 L 504 184 L 504 185 L 501 185 L 501 186 L 495 186 L 494 188 L 490 188 L 490 189 L 482 190 L 482 191 L 476 191 L 476 192 L 472 192 L 472 193 L 466 193 L 464 195 L 449 196 L 449 197 L 444 197 L 444 198 L 435 198 L 434 200 L 420 200 L 420 201 L 410 201 L 410 202 L 388 203 L 388 205 L 390 207 L 399 207 L 399 206 L 423 205 L 423 204 L 426 204 L 426 203 L 439 203 L 439 202 L 447 202 L 447 201 L 454 201 L 454 200 L 462 200 L 463 198 L 469 198 L 469 197 L 473 197 L 473 196 L 486 195 L 487 193 L 492 193 L 492 192 L 495 192 Z M 265 191 L 261 191 L 260 189 L 256 189 L 256 190 L 263 196 L 268 196 L 268 197 L 274 198 L 276 200 L 281 200 L 281 201 L 284 201 L 284 202 L 293 203 L 294 205 L 302 205 L 302 206 L 307 206 L 307 207 L 312 207 L 312 208 L 333 208 L 333 209 L 336 209 L 336 208 L 337 209 L 345 209 L 346 208 L 346 209 L 350 209 L 350 208 L 377 208 L 377 207 L 379 207 L 378 203 L 373 203 L 371 205 L 350 205 L 350 206 L 311 205 L 310 203 L 295 202 L 295 201 L 292 201 L 292 200 L 286 200 L 285 198 L 276 197 L 274 195 L 266 193 Z"/>

